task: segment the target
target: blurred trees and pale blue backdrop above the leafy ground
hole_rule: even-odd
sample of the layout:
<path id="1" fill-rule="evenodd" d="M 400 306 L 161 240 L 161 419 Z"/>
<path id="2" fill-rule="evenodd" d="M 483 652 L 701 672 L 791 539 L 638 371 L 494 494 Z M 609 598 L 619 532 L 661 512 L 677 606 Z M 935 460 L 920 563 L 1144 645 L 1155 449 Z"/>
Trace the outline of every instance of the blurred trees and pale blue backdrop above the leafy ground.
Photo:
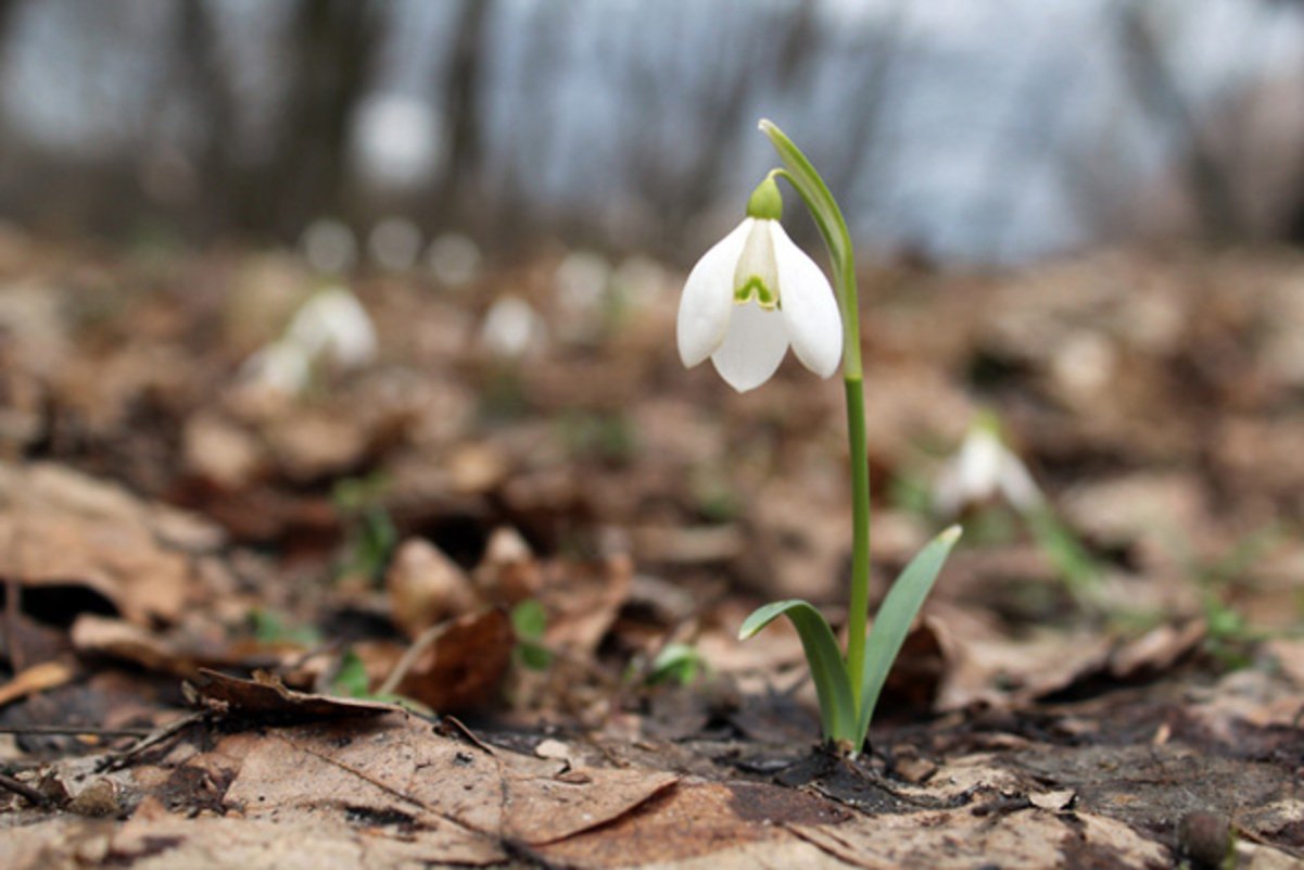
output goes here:
<path id="1" fill-rule="evenodd" d="M 0 0 L 0 214 L 53 233 L 685 263 L 769 116 L 879 254 L 1304 237 L 1287 0 Z"/>

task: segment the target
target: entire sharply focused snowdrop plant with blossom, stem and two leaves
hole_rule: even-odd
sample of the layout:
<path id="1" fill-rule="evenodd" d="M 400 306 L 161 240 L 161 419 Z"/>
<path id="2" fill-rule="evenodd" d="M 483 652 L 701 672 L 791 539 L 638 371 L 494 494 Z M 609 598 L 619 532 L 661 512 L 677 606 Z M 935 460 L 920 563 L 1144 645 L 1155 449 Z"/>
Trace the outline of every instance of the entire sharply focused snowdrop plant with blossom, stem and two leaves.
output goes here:
<path id="1" fill-rule="evenodd" d="M 852 239 L 837 201 L 806 155 L 771 121 L 760 121 L 760 130 L 784 167 L 765 176 L 748 200 L 747 218 L 689 274 L 677 338 L 685 365 L 709 357 L 738 391 L 768 381 L 789 344 L 802 364 L 822 377 L 831 376 L 841 357 L 854 528 L 846 652 L 824 616 L 798 599 L 758 609 L 738 637 L 750 638 L 780 616 L 793 622 L 819 694 L 824 740 L 855 755 L 865 746 L 888 670 L 960 528 L 941 532 L 905 567 L 868 631 L 870 466 Z M 815 219 L 833 265 L 833 287 L 778 223 L 782 200 L 776 179 L 793 185 Z"/>

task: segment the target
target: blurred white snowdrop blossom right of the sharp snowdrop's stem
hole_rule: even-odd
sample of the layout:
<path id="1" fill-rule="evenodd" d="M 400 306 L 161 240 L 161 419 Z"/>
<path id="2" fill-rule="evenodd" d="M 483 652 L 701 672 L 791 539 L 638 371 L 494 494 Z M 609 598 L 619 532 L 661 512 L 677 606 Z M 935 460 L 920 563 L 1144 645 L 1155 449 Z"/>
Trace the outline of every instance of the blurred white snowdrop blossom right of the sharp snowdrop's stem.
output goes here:
<path id="1" fill-rule="evenodd" d="M 934 503 L 943 517 L 955 517 L 995 496 L 1021 513 L 1043 501 L 1028 467 L 1001 442 L 995 417 L 981 415 L 938 477 Z"/>

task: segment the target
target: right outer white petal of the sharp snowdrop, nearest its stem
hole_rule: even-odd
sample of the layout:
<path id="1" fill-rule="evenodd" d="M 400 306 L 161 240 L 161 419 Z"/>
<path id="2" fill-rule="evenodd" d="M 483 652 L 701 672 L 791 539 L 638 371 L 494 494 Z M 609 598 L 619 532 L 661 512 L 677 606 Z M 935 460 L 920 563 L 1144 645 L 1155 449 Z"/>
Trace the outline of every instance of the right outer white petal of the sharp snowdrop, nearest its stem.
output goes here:
<path id="1" fill-rule="evenodd" d="M 828 278 L 798 248 L 782 224 L 771 222 L 778 265 L 778 304 L 797 359 L 815 374 L 828 377 L 842 359 L 842 316 Z"/>

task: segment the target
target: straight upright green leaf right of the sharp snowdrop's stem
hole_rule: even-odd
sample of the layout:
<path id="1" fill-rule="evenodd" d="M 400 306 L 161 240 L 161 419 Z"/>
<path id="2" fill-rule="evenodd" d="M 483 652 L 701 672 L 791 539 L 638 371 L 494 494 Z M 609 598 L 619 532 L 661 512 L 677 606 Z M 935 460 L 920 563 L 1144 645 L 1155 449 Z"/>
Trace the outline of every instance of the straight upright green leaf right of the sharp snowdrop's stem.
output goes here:
<path id="1" fill-rule="evenodd" d="M 934 580 L 951 554 L 951 548 L 960 540 L 960 527 L 952 526 L 928 543 L 919 554 L 905 566 L 892 584 L 874 617 L 874 627 L 865 644 L 865 680 L 861 683 L 861 711 L 857 721 L 857 734 L 863 745 L 874 719 L 874 707 L 879 703 L 879 693 L 887 682 L 888 672 L 901 652 L 905 635 L 914 622 L 915 614 L 923 607 L 932 590 Z"/>

